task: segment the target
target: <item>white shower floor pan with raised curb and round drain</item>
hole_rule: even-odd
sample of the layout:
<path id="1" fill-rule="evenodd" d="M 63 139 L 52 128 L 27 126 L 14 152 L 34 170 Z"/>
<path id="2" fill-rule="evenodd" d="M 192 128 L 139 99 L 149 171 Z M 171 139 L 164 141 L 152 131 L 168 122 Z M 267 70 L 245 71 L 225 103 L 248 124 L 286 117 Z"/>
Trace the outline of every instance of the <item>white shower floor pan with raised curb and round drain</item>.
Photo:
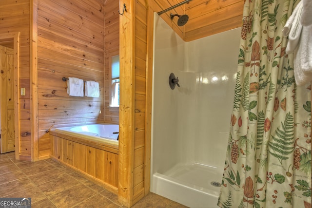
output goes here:
<path id="1" fill-rule="evenodd" d="M 163 174 L 153 174 L 151 191 L 190 208 L 218 208 L 222 174 L 212 166 L 177 164 Z"/>

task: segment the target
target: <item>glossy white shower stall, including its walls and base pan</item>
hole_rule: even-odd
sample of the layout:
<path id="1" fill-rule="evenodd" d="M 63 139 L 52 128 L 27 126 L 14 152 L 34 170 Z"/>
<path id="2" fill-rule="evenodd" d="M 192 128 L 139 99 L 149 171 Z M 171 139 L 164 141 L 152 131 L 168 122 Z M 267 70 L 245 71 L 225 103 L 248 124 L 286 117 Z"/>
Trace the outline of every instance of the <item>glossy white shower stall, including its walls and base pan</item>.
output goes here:
<path id="1" fill-rule="evenodd" d="M 216 208 L 240 28 L 184 42 L 156 13 L 154 24 L 151 191 L 188 207 Z M 174 90 L 170 73 L 179 79 Z"/>

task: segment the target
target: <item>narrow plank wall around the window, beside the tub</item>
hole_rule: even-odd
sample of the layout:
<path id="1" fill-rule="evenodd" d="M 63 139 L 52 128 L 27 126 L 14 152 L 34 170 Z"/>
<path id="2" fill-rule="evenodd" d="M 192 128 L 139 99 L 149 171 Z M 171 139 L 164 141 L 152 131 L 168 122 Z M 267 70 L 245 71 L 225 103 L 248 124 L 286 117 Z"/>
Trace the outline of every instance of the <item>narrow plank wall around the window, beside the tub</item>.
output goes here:
<path id="1" fill-rule="evenodd" d="M 104 7 L 104 30 L 105 30 L 105 45 L 104 45 L 104 67 L 105 67 L 105 122 L 119 123 L 119 108 L 109 107 L 110 102 L 110 77 L 111 67 L 110 58 L 119 55 L 119 1 L 107 0 Z M 122 8 L 120 9 L 122 10 Z"/>

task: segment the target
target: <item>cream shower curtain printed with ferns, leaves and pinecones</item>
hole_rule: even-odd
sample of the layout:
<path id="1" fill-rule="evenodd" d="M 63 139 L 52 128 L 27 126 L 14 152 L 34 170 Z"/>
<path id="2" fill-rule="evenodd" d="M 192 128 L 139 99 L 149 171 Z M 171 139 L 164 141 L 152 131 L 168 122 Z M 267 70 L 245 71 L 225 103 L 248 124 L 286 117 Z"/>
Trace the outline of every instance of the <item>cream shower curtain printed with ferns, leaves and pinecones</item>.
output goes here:
<path id="1" fill-rule="evenodd" d="M 244 3 L 221 208 L 311 208 L 311 86 L 282 35 L 298 2 Z"/>

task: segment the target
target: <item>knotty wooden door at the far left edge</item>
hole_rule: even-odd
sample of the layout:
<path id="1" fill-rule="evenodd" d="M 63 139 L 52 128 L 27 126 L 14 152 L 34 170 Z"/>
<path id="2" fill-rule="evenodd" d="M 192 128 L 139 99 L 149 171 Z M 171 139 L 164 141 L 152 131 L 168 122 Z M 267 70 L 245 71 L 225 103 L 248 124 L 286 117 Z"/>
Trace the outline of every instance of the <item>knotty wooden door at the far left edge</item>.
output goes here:
<path id="1" fill-rule="evenodd" d="M 13 49 L 0 45 L 0 153 L 15 151 L 13 63 Z"/>

